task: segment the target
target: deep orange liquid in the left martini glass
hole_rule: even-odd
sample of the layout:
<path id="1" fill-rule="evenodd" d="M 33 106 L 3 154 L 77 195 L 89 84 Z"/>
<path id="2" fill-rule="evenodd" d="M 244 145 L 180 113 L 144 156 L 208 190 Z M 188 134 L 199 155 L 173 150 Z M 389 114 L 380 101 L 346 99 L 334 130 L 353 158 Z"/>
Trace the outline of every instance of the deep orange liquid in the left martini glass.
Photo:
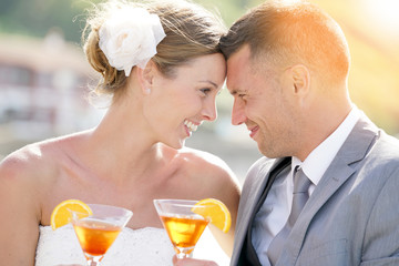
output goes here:
<path id="1" fill-rule="evenodd" d="M 120 226 L 90 218 L 74 225 L 83 252 L 92 256 L 104 255 L 121 229 Z"/>

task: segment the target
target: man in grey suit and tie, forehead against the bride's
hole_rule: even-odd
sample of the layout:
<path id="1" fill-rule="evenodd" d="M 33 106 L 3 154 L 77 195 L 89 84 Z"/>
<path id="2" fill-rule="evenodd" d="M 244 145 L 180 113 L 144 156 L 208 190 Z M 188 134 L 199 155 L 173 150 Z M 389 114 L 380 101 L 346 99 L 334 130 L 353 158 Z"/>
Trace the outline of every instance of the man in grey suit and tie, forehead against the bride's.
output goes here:
<path id="1" fill-rule="evenodd" d="M 399 142 L 351 103 L 339 25 L 270 0 L 221 48 L 233 124 L 265 155 L 245 180 L 231 265 L 399 265 Z"/>

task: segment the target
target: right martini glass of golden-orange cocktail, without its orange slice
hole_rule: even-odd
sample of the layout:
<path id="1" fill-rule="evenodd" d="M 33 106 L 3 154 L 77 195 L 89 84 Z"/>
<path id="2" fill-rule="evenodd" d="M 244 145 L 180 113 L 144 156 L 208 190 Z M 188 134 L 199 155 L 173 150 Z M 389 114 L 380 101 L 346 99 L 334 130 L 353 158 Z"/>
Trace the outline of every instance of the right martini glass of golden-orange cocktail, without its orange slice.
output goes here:
<path id="1" fill-rule="evenodd" d="M 171 238 L 177 258 L 191 256 L 209 223 L 209 219 L 192 212 L 196 203 L 196 201 L 185 200 L 154 200 L 156 212 Z"/>

